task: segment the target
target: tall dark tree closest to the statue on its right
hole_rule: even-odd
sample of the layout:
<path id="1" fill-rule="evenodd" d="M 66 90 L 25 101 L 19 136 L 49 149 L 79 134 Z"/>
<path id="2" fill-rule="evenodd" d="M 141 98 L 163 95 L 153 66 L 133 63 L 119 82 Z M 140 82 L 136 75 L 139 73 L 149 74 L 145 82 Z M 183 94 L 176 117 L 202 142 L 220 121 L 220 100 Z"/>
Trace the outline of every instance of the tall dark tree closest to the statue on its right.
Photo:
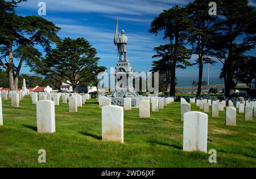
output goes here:
<path id="1" fill-rule="evenodd" d="M 156 56 L 162 57 L 162 59 L 160 59 L 159 62 L 153 62 L 153 66 L 155 66 L 156 69 L 166 72 L 166 80 L 170 81 L 171 96 L 175 96 L 176 67 L 182 68 L 184 65 L 190 65 L 190 63 L 186 61 L 189 52 L 185 48 L 184 42 L 187 39 L 187 32 L 192 22 L 191 19 L 186 18 L 186 16 L 187 9 L 176 5 L 169 10 L 163 10 L 163 12 L 151 22 L 151 28 L 149 30 L 150 33 L 154 33 L 155 35 L 163 31 L 163 39 L 170 41 L 169 45 L 159 46 L 155 49 L 158 51 L 158 55 Z M 190 55 L 191 54 L 189 54 L 189 56 Z M 184 64 L 180 65 L 180 62 Z M 163 70 L 164 64 L 168 64 L 165 66 L 165 70 Z M 156 69 L 153 67 L 152 70 L 154 71 Z"/>

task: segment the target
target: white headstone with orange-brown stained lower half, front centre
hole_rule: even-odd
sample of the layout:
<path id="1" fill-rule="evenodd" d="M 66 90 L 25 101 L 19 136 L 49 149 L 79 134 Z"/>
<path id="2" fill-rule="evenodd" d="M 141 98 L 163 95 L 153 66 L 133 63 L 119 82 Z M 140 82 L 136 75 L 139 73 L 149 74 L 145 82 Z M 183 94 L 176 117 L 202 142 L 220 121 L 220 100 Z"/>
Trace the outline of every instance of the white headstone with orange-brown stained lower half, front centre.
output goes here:
<path id="1" fill-rule="evenodd" d="M 123 143 L 123 108 L 116 105 L 104 106 L 101 114 L 102 140 Z"/>

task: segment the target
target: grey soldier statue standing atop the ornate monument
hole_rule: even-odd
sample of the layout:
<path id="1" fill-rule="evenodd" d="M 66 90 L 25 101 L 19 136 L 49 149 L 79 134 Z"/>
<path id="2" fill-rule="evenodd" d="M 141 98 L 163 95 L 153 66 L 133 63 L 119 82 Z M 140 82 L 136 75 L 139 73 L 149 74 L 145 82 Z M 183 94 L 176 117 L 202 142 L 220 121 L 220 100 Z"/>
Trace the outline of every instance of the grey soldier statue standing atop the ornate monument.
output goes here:
<path id="1" fill-rule="evenodd" d="M 124 61 L 127 62 L 127 55 L 126 55 L 127 37 L 125 36 L 125 30 L 122 30 L 121 35 L 118 35 L 118 19 L 117 19 L 117 25 L 115 27 L 114 44 L 117 45 L 117 48 L 118 48 L 119 62 L 123 61 L 123 53 L 125 54 Z"/>

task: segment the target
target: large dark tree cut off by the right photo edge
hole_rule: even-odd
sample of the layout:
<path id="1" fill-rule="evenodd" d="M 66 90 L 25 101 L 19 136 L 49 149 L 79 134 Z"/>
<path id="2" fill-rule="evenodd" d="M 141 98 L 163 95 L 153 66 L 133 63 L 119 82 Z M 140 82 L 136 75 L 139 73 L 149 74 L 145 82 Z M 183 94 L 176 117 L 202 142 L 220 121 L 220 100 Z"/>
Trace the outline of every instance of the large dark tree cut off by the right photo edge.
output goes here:
<path id="1" fill-rule="evenodd" d="M 212 37 L 211 51 L 223 64 L 220 78 L 224 78 L 225 96 L 229 97 L 230 89 L 236 86 L 233 79 L 238 75 L 235 75 L 240 68 L 238 64 L 247 58 L 245 53 L 255 47 L 256 11 L 247 0 L 222 0 L 217 3 L 221 16 L 215 25 L 218 33 Z"/>

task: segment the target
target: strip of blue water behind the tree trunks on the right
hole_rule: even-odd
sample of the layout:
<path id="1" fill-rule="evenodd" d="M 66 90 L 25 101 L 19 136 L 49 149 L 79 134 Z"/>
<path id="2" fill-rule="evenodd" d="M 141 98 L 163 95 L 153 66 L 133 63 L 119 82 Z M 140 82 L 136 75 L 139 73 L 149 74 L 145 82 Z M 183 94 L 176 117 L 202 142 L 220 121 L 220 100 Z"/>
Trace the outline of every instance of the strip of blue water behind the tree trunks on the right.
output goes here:
<path id="1" fill-rule="evenodd" d="M 192 82 L 198 82 L 197 76 L 177 76 L 176 87 L 193 86 Z M 203 77 L 202 81 L 208 82 L 208 77 Z M 220 79 L 217 76 L 209 77 L 209 85 L 224 84 L 224 79 Z"/>

